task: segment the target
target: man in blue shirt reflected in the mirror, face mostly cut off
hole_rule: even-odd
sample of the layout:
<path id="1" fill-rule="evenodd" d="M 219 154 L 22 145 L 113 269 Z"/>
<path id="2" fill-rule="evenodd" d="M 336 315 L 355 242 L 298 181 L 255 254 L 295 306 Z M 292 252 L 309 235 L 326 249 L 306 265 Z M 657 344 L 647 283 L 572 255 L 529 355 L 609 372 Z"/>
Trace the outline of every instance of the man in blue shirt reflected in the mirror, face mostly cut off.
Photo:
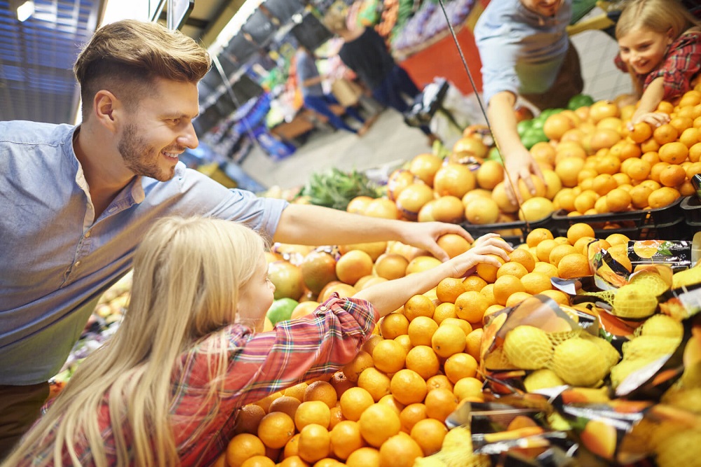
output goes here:
<path id="1" fill-rule="evenodd" d="M 582 92 L 577 50 L 565 28 L 572 19 L 572 0 L 492 1 L 475 25 L 482 60 L 487 116 L 505 160 L 508 179 L 523 179 L 531 193 L 531 174 L 540 168 L 519 139 L 515 104 L 519 96 L 540 110 L 566 107 Z M 509 183 L 512 202 L 517 195 Z"/>

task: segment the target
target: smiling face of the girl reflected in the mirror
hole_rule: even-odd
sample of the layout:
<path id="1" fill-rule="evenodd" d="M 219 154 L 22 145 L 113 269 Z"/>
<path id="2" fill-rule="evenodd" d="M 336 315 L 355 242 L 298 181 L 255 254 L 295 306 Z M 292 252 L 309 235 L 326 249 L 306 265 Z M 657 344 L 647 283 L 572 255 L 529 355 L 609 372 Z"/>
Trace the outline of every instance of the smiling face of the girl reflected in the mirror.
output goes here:
<path id="1" fill-rule="evenodd" d="M 657 69 L 672 43 L 671 34 L 654 32 L 640 27 L 618 39 L 620 57 L 637 74 L 648 74 Z"/>

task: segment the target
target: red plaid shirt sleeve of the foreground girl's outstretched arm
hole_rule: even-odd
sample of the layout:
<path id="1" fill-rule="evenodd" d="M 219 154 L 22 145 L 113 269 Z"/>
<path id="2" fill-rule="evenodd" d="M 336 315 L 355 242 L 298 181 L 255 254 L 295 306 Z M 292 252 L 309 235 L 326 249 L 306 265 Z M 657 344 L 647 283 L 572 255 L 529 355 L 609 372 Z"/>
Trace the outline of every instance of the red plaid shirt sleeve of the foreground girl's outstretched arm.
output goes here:
<path id="1" fill-rule="evenodd" d="M 267 333 L 243 326 L 229 333 L 229 374 L 223 399 L 242 407 L 288 386 L 338 370 L 358 354 L 379 315 L 366 300 L 335 295 L 302 319 L 278 323 Z M 211 351 L 211 350 L 210 350 Z M 179 386 L 192 391 L 208 383 L 208 351 L 190 352 Z"/>

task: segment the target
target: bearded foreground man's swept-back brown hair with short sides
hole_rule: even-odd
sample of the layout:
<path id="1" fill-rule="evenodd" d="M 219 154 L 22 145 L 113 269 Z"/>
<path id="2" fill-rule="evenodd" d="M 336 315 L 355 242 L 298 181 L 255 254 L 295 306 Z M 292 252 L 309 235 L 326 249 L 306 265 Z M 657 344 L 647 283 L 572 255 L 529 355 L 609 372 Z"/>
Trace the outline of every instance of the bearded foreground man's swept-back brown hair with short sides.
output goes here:
<path id="1" fill-rule="evenodd" d="M 122 20 L 97 29 L 74 64 L 83 120 L 93 97 L 106 89 L 128 105 L 152 92 L 154 79 L 197 83 L 212 64 L 209 53 L 177 30 Z"/>

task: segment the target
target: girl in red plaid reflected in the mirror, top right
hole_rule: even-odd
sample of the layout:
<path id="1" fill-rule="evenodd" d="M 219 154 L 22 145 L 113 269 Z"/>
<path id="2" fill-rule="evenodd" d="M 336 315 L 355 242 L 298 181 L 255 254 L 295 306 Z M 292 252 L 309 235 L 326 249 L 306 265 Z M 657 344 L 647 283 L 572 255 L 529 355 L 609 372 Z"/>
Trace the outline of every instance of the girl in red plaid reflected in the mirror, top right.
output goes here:
<path id="1" fill-rule="evenodd" d="M 677 0 L 630 0 L 615 36 L 620 48 L 615 64 L 630 74 L 640 99 L 630 125 L 668 123 L 669 115 L 656 109 L 688 91 L 701 69 L 699 23 Z"/>

